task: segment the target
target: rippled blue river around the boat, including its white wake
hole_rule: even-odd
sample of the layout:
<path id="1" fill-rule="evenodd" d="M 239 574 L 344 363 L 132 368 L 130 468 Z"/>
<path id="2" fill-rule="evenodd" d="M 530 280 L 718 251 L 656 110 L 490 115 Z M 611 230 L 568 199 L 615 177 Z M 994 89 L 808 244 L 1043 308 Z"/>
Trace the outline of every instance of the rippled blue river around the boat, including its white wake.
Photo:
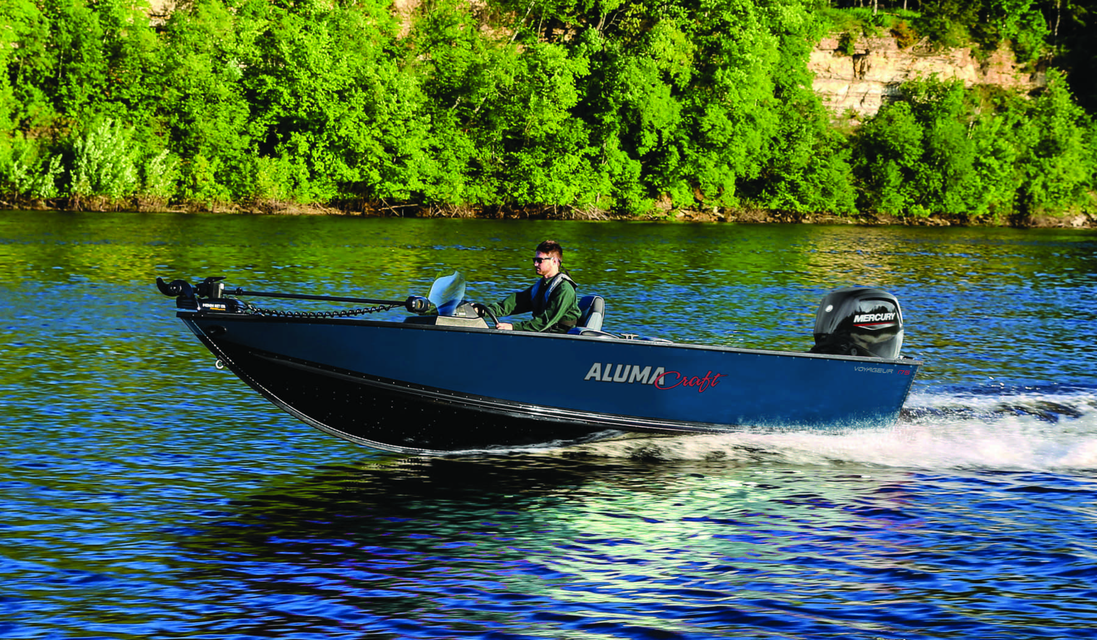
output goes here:
<path id="1" fill-rule="evenodd" d="M 904 418 L 387 454 L 152 285 L 496 300 L 545 238 L 607 328 L 681 341 L 806 350 L 826 292 L 886 289 Z M 0 212 L 0 638 L 1086 638 L 1095 299 L 1093 231 Z"/>

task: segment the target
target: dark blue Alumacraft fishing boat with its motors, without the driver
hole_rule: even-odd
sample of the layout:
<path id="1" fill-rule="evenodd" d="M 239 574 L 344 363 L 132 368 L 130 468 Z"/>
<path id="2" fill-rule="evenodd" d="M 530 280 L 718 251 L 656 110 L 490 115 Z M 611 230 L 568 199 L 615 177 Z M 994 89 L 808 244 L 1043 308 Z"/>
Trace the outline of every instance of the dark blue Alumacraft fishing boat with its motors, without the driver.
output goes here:
<path id="1" fill-rule="evenodd" d="M 157 288 L 218 368 L 280 408 L 351 442 L 412 454 L 624 434 L 889 427 L 921 366 L 900 355 L 898 301 L 871 288 L 824 296 L 804 352 L 611 333 L 597 295 L 581 299 L 567 334 L 498 330 L 498 318 L 464 299 L 456 272 L 403 301 L 245 291 L 220 277 L 157 278 Z M 257 299 L 359 306 L 286 311 Z M 381 313 L 394 311 L 407 315 Z"/>

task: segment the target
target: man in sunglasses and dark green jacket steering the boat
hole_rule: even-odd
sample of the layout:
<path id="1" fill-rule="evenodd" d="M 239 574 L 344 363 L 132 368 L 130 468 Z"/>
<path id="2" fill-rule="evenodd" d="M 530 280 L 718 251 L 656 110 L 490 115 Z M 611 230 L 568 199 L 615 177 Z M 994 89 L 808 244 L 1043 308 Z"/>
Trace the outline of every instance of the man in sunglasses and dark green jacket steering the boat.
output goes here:
<path id="1" fill-rule="evenodd" d="M 533 317 L 517 323 L 499 323 L 497 329 L 566 334 L 579 319 L 575 281 L 563 268 L 564 248 L 556 240 L 538 245 L 533 269 L 540 280 L 523 291 L 516 291 L 496 303 L 483 306 L 496 317 L 532 312 Z M 480 310 L 477 310 L 480 311 Z M 480 311 L 483 314 L 483 311 Z"/>

